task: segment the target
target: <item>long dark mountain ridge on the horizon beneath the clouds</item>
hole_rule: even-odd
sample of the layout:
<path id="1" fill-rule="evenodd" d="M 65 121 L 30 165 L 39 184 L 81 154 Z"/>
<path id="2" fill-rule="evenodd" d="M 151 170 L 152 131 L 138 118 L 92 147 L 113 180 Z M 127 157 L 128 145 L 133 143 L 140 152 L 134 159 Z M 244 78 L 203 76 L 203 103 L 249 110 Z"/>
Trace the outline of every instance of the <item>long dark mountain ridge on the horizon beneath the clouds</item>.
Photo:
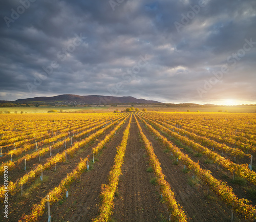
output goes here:
<path id="1" fill-rule="evenodd" d="M 145 99 L 136 99 L 132 96 L 99 96 L 99 95 L 90 95 L 90 96 L 78 96 L 72 94 L 63 94 L 58 96 L 51 97 L 34 97 L 27 99 L 17 99 L 15 103 L 28 103 L 28 102 L 42 102 L 42 103 L 83 103 L 83 104 L 114 104 L 114 103 L 159 103 L 161 102 L 154 100 L 145 100 Z"/>

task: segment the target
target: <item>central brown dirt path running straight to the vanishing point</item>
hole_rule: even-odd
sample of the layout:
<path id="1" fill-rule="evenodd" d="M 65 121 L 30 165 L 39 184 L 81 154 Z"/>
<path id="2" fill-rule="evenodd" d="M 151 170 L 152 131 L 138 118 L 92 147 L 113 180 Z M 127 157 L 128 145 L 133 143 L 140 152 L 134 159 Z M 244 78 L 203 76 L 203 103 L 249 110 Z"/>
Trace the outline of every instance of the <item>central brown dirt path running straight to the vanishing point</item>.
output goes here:
<path id="1" fill-rule="evenodd" d="M 148 158 L 142 146 L 133 117 L 115 197 L 115 221 L 161 221 L 168 217 L 167 208 L 160 203 L 157 187 L 150 183 L 154 173 L 146 172 Z"/>

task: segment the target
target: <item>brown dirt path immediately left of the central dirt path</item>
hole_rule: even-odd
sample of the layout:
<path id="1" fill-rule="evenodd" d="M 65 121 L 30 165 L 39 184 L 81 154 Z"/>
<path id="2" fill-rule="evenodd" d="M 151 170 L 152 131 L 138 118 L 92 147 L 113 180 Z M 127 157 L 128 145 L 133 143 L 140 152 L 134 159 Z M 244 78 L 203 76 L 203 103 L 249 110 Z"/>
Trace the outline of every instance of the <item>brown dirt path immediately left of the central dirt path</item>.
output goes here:
<path id="1" fill-rule="evenodd" d="M 92 221 L 99 213 L 101 184 L 108 183 L 108 175 L 114 164 L 116 147 L 122 141 L 123 131 L 128 124 L 118 130 L 109 144 L 103 149 L 93 169 L 81 174 L 81 182 L 73 183 L 69 197 L 63 203 L 55 203 L 51 208 L 52 221 Z"/>

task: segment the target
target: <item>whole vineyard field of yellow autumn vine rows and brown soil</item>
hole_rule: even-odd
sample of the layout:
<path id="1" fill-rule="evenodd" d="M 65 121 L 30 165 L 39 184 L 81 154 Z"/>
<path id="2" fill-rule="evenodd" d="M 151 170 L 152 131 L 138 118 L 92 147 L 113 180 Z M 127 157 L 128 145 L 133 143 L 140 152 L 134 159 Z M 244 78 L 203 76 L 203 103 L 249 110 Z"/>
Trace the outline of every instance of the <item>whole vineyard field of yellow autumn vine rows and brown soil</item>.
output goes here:
<path id="1" fill-rule="evenodd" d="M 256 220 L 255 114 L 0 117 L 3 221 Z"/>

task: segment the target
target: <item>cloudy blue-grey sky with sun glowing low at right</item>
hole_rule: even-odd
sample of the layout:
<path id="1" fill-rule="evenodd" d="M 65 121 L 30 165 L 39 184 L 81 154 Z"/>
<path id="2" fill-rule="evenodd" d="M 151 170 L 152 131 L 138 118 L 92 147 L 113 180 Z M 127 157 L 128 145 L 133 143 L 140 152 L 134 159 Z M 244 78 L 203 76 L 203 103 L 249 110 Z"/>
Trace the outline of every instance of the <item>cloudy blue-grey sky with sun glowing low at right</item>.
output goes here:
<path id="1" fill-rule="evenodd" d="M 2 0 L 0 100 L 256 104 L 255 0 Z"/>

